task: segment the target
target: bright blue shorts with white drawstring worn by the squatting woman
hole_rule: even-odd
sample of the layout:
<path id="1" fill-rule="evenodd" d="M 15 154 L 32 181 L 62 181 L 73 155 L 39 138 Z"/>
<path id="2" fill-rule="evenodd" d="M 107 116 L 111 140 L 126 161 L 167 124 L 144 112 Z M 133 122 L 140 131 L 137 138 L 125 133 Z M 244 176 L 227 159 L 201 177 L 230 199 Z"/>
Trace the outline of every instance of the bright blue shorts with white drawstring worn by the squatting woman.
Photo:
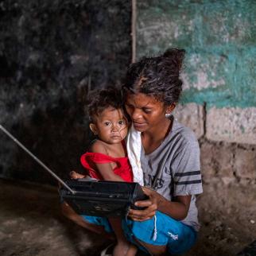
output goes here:
<path id="1" fill-rule="evenodd" d="M 88 223 L 103 226 L 107 232 L 113 232 L 107 218 L 87 215 L 82 215 L 82 217 Z M 161 211 L 157 211 L 156 217 L 142 222 L 122 219 L 122 229 L 126 239 L 145 252 L 147 250 L 134 241 L 134 237 L 151 245 L 166 245 L 170 254 L 184 254 L 195 244 L 197 236 L 197 232 L 192 227 L 161 213 Z"/>

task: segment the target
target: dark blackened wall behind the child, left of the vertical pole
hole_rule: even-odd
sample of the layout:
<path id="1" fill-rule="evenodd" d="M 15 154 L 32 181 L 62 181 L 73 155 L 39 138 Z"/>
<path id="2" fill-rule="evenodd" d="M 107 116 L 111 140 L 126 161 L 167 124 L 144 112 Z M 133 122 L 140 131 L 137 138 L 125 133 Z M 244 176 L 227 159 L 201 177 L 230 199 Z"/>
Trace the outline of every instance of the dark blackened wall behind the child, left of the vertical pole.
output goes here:
<path id="1" fill-rule="evenodd" d="M 130 2 L 0 2 L 0 123 L 63 178 L 91 133 L 88 89 L 120 83 L 130 64 Z M 0 176 L 55 183 L 0 132 Z"/>

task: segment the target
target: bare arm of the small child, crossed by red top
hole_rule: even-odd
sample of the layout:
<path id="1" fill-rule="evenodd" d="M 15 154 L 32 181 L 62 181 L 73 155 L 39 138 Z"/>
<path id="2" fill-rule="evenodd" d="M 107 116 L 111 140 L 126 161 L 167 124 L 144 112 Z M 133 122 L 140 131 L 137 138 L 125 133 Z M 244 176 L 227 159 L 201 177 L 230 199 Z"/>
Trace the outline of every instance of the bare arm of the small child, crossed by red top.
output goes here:
<path id="1" fill-rule="evenodd" d="M 93 145 L 91 145 L 91 152 L 107 154 L 106 148 L 99 141 L 96 141 Z M 101 174 L 101 176 L 103 176 L 103 180 L 124 181 L 124 180 L 122 180 L 122 178 L 120 176 L 116 175 L 113 172 L 111 163 L 107 163 L 107 164 L 96 164 L 95 163 L 95 166 L 96 166 L 97 170 L 99 171 L 99 173 Z"/>

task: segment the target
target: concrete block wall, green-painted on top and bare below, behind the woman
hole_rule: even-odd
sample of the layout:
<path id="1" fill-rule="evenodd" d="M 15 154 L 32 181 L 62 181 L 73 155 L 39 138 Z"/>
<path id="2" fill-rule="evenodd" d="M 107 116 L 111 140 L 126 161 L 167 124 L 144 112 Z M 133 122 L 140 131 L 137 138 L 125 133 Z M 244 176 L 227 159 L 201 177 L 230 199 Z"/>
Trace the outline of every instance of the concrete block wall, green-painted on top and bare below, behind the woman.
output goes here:
<path id="1" fill-rule="evenodd" d="M 175 116 L 200 140 L 204 181 L 256 181 L 256 2 L 137 1 L 137 59 L 184 48 Z"/>

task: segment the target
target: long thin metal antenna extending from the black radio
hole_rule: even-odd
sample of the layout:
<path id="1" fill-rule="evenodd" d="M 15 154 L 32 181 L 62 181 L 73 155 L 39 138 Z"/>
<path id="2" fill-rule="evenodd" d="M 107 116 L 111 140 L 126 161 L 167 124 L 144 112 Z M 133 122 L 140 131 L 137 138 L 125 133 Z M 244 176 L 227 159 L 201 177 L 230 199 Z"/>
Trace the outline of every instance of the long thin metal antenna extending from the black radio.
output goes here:
<path id="1" fill-rule="evenodd" d="M 63 180 L 60 179 L 59 176 L 57 176 L 55 173 L 52 172 L 52 170 L 50 170 L 42 161 L 40 161 L 33 153 L 31 153 L 29 151 L 29 149 L 27 149 L 25 147 L 25 145 L 22 145 L 21 142 L 19 142 L 17 140 L 17 138 L 14 138 L 14 136 L 12 134 L 10 134 L 10 132 L 8 130 L 6 130 L 1 124 L 0 124 L 0 129 L 9 137 L 11 138 L 17 145 L 19 145 L 21 147 L 21 149 L 23 149 L 26 153 L 29 154 L 30 157 L 32 157 L 35 161 L 37 161 L 37 163 L 39 165 L 41 165 L 45 170 L 47 170 L 48 173 L 50 173 L 56 180 L 60 181 L 61 184 L 64 185 L 65 188 L 67 188 L 70 192 L 72 192 L 72 194 L 75 194 L 76 192 L 74 190 L 72 190 L 72 188 L 70 188 L 67 184 L 64 183 Z"/>

